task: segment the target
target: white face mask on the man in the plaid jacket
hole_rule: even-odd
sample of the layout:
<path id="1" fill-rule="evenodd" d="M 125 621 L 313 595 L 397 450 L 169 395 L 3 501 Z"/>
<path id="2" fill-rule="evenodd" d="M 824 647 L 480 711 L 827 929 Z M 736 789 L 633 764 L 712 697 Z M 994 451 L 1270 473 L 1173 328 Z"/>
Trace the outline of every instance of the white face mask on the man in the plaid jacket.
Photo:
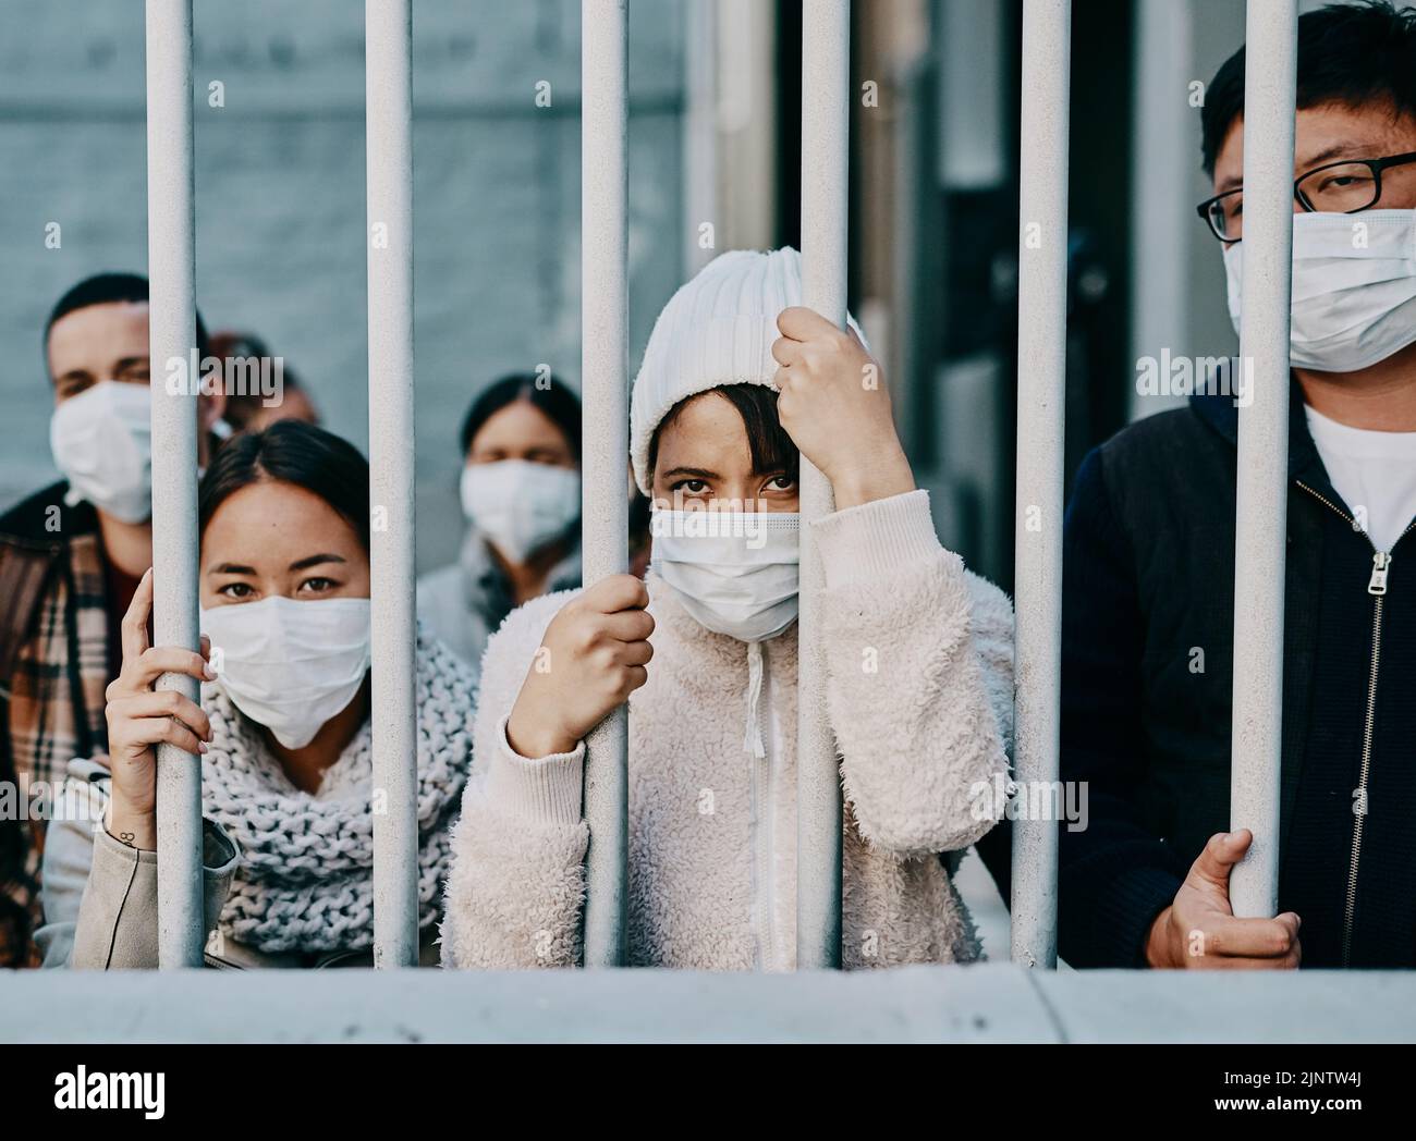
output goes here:
<path id="1" fill-rule="evenodd" d="M 50 450 L 69 504 L 91 503 L 122 522 L 152 517 L 152 406 L 146 384 L 99 381 L 54 409 Z"/>

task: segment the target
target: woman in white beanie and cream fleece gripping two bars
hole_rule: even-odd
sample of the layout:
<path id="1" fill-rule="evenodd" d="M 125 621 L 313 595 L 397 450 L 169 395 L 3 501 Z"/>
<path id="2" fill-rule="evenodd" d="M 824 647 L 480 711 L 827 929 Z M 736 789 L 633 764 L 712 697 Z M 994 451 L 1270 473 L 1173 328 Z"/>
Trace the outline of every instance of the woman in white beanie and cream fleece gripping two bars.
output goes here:
<path id="1" fill-rule="evenodd" d="M 796 251 L 733 252 L 660 314 L 630 442 L 650 573 L 537 599 L 491 640 L 445 965 L 581 961 L 585 738 L 626 699 L 630 964 L 796 965 L 799 449 L 837 505 L 813 528 L 844 963 L 978 957 L 944 856 L 1001 814 L 1011 607 L 939 545 L 860 338 L 800 296 Z"/>

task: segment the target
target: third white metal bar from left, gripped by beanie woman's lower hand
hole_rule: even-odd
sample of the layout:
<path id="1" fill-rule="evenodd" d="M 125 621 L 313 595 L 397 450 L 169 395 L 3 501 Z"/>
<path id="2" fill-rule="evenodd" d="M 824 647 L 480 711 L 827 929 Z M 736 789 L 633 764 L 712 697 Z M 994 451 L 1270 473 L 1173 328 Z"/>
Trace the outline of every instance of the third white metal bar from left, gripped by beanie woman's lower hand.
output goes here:
<path id="1" fill-rule="evenodd" d="M 581 389 L 585 583 L 629 569 L 629 23 L 626 0 L 581 3 Z M 629 716 L 586 742 L 585 965 L 624 961 Z"/>

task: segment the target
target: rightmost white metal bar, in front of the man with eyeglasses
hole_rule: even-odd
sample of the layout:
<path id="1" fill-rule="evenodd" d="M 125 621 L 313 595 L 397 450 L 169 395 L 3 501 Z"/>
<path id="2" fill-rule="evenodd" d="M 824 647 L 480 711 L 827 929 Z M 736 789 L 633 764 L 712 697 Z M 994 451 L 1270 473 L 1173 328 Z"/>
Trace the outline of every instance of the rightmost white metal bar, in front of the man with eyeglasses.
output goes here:
<path id="1" fill-rule="evenodd" d="M 1249 0 L 1246 17 L 1239 354 L 1253 391 L 1239 408 L 1229 820 L 1253 847 L 1231 872 L 1229 900 L 1253 917 L 1279 906 L 1298 13 L 1294 0 Z"/>

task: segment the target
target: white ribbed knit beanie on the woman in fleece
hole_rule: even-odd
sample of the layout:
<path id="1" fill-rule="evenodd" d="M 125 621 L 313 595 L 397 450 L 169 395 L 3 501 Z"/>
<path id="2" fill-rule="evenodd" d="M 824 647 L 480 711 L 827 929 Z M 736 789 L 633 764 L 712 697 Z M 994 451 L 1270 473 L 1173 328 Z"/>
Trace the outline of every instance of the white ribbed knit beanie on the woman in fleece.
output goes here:
<path id="1" fill-rule="evenodd" d="M 649 443 L 680 401 L 726 384 L 772 388 L 777 317 L 801 304 L 801 255 L 792 246 L 719 253 L 680 286 L 649 334 L 630 402 L 630 459 L 650 494 Z M 854 320 L 851 328 L 865 337 Z"/>

